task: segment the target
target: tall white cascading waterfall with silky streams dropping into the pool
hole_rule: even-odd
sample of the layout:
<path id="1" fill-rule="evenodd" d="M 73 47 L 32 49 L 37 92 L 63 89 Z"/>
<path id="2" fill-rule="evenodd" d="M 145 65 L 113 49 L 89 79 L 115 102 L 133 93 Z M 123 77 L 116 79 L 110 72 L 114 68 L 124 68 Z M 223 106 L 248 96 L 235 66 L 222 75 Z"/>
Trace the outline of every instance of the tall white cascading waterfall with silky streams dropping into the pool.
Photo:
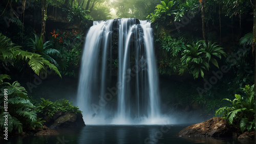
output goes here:
<path id="1" fill-rule="evenodd" d="M 118 31 L 117 80 L 112 78 L 114 31 Z M 84 44 L 77 95 L 86 124 L 161 123 L 153 45 L 150 22 L 133 18 L 94 22 Z"/>

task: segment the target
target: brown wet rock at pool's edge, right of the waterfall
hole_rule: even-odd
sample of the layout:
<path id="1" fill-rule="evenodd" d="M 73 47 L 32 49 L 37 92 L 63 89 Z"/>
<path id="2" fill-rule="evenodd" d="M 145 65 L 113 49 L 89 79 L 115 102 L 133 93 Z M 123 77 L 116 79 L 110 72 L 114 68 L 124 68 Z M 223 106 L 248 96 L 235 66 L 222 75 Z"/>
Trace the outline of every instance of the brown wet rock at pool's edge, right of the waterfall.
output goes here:
<path id="1" fill-rule="evenodd" d="M 179 136 L 232 136 L 236 131 L 225 119 L 212 118 L 199 124 L 190 125 L 181 130 Z"/>

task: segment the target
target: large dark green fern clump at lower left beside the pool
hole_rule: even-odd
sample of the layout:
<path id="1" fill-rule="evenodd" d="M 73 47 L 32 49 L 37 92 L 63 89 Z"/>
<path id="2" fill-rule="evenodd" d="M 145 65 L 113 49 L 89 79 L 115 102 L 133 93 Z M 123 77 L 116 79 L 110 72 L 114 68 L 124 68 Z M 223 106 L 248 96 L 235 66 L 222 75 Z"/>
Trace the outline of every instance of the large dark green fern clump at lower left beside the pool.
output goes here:
<path id="1" fill-rule="evenodd" d="M 7 75 L 0 75 L 0 80 L 3 81 L 5 78 L 9 79 Z M 38 127 L 41 126 L 41 123 L 36 123 L 37 114 L 35 106 L 30 102 L 29 97 L 27 96 L 27 91 L 24 87 L 20 86 L 17 81 L 14 81 L 12 84 L 9 82 L 2 82 L 0 85 L 5 84 L 1 89 L 0 93 L 1 100 L 1 111 L 0 111 L 0 127 L 4 129 L 5 119 L 4 115 L 8 111 L 8 131 L 17 130 L 21 133 L 25 126 Z M 6 97 L 7 95 L 8 97 Z M 8 108 L 5 106 L 8 99 Z M 33 124 L 32 124 L 33 123 Z"/>

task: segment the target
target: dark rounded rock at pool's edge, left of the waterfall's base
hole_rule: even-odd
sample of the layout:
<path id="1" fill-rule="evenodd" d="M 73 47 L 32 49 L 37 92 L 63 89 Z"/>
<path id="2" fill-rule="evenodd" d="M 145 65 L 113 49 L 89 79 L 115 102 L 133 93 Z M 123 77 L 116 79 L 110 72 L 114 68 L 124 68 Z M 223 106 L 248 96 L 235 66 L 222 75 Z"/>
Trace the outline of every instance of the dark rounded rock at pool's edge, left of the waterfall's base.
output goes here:
<path id="1" fill-rule="evenodd" d="M 50 128 L 70 128 L 70 127 L 83 127 L 86 126 L 82 119 L 81 113 L 70 112 L 60 116 L 54 121 Z"/>

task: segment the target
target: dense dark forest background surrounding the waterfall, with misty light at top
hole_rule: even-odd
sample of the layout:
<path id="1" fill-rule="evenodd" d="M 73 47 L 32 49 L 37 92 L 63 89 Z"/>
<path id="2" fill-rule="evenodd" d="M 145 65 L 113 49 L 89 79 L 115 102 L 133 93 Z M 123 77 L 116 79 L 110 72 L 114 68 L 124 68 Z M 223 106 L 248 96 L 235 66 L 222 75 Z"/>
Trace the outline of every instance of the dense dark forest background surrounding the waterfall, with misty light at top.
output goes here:
<path id="1" fill-rule="evenodd" d="M 229 105 L 222 99 L 245 96 L 240 88 L 255 81 L 255 5 L 252 0 L 3 0 L 0 84 L 13 89 L 13 98 L 34 105 L 40 97 L 75 100 L 84 37 L 93 20 L 144 19 L 154 29 L 163 110 L 213 117 Z"/>

